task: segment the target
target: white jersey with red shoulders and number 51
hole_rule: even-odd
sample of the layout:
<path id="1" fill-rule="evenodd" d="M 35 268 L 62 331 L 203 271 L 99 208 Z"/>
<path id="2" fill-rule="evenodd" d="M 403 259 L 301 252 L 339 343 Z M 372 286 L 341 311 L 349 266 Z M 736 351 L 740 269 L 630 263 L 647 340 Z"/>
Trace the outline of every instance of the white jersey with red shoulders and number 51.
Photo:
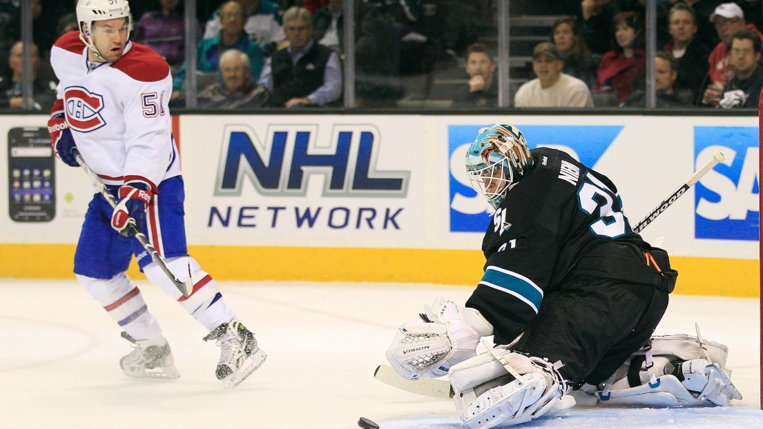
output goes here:
<path id="1" fill-rule="evenodd" d="M 77 149 L 105 184 L 144 181 L 156 191 L 180 174 L 172 139 L 167 62 L 140 43 L 95 69 L 78 31 L 64 34 L 50 53 L 60 83 L 51 114 L 66 113 Z"/>

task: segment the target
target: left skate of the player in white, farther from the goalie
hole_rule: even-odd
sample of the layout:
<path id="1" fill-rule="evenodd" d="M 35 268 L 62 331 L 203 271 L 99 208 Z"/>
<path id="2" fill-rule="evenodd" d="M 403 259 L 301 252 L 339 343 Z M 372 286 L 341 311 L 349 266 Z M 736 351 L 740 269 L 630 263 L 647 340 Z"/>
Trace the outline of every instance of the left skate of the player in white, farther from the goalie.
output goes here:
<path id="1" fill-rule="evenodd" d="M 136 340 L 127 332 L 122 332 L 122 338 L 135 347 L 119 360 L 124 375 L 137 379 L 176 379 L 180 376 L 166 338 Z"/>

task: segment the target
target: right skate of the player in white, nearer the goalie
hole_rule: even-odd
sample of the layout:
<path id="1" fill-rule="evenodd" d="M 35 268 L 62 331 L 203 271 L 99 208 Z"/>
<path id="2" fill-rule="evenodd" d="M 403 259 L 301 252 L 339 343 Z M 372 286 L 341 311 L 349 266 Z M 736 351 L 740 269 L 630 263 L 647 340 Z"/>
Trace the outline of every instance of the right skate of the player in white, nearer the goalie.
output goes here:
<path id="1" fill-rule="evenodd" d="M 237 319 L 224 323 L 209 335 L 204 341 L 217 340 L 221 347 L 220 362 L 215 371 L 217 379 L 222 380 L 226 389 L 238 386 L 265 362 L 267 355 L 257 347 L 257 340 L 249 329 L 246 329 Z"/>

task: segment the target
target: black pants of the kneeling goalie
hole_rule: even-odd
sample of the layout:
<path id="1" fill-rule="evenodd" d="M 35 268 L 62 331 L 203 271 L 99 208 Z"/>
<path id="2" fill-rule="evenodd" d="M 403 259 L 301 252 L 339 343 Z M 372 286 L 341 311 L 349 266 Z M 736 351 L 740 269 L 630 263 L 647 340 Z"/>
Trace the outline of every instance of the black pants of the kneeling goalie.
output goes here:
<path id="1" fill-rule="evenodd" d="M 658 258 L 662 273 L 646 264 L 649 257 L 635 245 L 600 246 L 562 287 L 544 297 L 513 349 L 552 363 L 561 360 L 560 372 L 573 386 L 608 379 L 649 340 L 668 307 L 678 274 L 669 269 L 667 254 L 655 251 L 664 254 Z"/>

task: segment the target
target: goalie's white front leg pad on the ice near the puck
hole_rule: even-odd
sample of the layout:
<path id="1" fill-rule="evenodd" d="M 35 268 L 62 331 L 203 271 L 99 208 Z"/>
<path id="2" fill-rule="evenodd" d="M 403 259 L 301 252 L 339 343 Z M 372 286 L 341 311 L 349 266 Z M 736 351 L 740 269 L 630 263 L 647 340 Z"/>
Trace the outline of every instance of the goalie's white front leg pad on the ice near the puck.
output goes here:
<path id="1" fill-rule="evenodd" d="M 449 372 L 462 427 L 520 424 L 575 405 L 559 365 L 496 347 Z"/>

